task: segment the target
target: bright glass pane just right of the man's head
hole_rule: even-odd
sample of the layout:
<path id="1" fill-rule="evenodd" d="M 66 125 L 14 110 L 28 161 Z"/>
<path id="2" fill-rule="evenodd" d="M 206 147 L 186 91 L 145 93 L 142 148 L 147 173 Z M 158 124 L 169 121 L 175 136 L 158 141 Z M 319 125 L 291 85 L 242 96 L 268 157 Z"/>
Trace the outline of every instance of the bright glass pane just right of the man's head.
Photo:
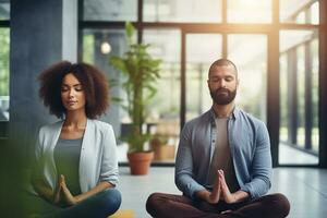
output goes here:
<path id="1" fill-rule="evenodd" d="M 266 35 L 228 35 L 228 58 L 233 60 L 239 70 L 240 85 L 237 95 L 238 106 L 256 118 L 266 121 Z"/>

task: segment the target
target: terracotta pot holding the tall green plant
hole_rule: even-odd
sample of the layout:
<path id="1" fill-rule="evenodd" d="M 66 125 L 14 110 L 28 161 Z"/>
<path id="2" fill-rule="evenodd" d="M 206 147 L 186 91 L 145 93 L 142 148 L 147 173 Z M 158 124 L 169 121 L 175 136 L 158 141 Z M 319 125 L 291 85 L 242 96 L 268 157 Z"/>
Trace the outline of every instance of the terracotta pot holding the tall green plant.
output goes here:
<path id="1" fill-rule="evenodd" d="M 147 174 L 152 160 L 154 159 L 154 152 L 144 153 L 129 153 L 131 174 Z"/>

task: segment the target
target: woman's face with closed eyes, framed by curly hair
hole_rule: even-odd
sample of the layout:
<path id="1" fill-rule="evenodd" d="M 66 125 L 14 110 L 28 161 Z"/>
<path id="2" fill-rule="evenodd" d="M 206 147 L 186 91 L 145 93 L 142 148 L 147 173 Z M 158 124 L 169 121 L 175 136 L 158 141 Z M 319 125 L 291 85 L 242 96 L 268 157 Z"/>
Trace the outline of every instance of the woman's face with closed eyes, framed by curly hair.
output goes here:
<path id="1" fill-rule="evenodd" d="M 85 94 L 80 81 L 72 74 L 66 74 L 61 83 L 61 101 L 68 111 L 85 108 Z"/>

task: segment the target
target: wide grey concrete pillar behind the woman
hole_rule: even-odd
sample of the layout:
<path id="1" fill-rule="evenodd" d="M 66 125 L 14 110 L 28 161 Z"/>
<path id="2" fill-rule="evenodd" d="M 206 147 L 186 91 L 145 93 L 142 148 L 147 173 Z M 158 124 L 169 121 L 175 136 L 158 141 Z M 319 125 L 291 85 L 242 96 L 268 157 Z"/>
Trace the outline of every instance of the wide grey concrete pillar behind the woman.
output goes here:
<path id="1" fill-rule="evenodd" d="M 9 135 L 29 154 L 38 128 L 57 120 L 38 97 L 37 76 L 77 58 L 77 0 L 12 0 L 10 28 Z"/>

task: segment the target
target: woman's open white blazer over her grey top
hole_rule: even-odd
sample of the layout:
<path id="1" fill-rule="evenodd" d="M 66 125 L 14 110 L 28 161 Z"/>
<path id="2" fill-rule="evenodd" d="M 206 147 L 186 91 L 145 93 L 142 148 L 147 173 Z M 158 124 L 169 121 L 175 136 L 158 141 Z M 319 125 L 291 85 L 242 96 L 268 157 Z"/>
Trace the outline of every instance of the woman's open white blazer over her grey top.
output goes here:
<path id="1" fill-rule="evenodd" d="M 43 180 L 52 190 L 58 184 L 53 149 L 61 133 L 63 121 L 44 125 L 38 133 L 35 147 L 36 173 L 34 179 Z M 66 166 L 68 168 L 70 166 Z M 80 157 L 80 186 L 87 192 L 100 181 L 118 183 L 117 144 L 112 126 L 87 119 Z"/>

